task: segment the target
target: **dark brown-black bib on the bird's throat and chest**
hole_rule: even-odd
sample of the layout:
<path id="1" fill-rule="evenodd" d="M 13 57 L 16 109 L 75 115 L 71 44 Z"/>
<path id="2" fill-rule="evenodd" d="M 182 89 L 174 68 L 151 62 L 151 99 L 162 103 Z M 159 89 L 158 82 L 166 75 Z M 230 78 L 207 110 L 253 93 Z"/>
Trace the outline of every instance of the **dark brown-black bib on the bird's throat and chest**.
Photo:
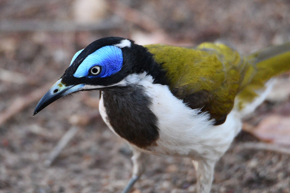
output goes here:
<path id="1" fill-rule="evenodd" d="M 115 132 L 138 146 L 146 148 L 158 139 L 157 117 L 142 87 L 122 87 L 102 92 L 108 120 Z"/>

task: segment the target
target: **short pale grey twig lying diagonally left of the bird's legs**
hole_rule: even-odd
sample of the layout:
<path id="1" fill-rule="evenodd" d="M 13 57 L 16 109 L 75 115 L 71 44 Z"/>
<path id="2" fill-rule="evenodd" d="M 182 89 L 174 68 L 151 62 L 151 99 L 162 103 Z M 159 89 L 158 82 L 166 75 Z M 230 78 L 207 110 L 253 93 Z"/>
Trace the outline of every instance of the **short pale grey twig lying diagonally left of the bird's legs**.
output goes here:
<path id="1" fill-rule="evenodd" d="M 62 136 L 62 138 L 59 140 L 55 148 L 50 152 L 50 155 L 48 156 L 48 159 L 44 161 L 44 165 L 46 167 L 49 167 L 52 162 L 57 158 L 61 150 L 68 144 L 70 139 L 72 139 L 75 134 L 77 133 L 77 127 L 72 126 L 65 134 Z"/>

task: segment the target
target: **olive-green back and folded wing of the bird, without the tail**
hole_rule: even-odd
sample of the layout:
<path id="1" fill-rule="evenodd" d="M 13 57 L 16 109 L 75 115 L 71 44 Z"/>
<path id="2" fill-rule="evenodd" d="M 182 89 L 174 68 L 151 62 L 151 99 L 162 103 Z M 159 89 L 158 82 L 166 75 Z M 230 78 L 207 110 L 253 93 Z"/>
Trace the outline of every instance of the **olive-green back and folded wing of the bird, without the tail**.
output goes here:
<path id="1" fill-rule="evenodd" d="M 251 80 L 248 65 L 235 50 L 213 43 L 195 49 L 168 45 L 146 45 L 166 71 L 173 95 L 192 109 L 210 113 L 216 125 L 224 123 L 235 96 Z"/>

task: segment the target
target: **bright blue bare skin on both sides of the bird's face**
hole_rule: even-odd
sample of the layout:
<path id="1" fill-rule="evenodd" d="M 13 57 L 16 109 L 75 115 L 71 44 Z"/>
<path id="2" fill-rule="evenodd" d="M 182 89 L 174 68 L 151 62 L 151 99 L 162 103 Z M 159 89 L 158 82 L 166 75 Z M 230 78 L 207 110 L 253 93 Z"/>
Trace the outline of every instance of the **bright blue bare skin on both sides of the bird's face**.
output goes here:
<path id="1" fill-rule="evenodd" d="M 79 53 L 80 52 L 81 51 L 79 51 Z M 76 55 L 79 55 L 78 52 L 75 54 L 75 58 L 77 58 Z M 88 76 L 90 68 L 95 65 L 101 67 L 101 73 L 96 76 Z M 121 48 L 113 45 L 104 46 L 88 55 L 79 65 L 73 76 L 77 78 L 84 76 L 88 76 L 88 78 L 104 78 L 117 73 L 119 70 L 121 70 L 122 65 L 123 54 Z"/>

